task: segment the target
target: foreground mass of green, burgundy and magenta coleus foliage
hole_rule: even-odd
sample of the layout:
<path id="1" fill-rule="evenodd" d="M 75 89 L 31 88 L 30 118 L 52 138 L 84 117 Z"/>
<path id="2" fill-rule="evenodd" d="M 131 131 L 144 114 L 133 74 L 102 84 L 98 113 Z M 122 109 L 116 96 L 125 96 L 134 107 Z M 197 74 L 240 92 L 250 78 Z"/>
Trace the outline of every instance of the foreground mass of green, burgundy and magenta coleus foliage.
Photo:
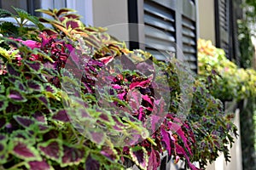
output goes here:
<path id="1" fill-rule="evenodd" d="M 2 168 L 156 169 L 164 151 L 191 169 L 218 151 L 228 161 L 236 127 L 201 82 L 189 113 L 178 114 L 186 70 L 177 60 L 130 51 L 71 9 L 40 11 L 51 29 L 0 44 Z"/>

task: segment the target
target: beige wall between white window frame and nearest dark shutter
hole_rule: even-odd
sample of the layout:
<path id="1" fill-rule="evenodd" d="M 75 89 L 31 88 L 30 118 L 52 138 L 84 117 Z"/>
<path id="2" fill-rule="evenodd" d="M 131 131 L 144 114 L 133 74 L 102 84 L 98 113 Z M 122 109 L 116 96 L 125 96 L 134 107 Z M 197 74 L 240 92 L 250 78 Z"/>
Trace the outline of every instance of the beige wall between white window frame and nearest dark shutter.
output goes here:
<path id="1" fill-rule="evenodd" d="M 108 27 L 120 41 L 129 40 L 127 0 L 93 0 L 93 26 Z"/>

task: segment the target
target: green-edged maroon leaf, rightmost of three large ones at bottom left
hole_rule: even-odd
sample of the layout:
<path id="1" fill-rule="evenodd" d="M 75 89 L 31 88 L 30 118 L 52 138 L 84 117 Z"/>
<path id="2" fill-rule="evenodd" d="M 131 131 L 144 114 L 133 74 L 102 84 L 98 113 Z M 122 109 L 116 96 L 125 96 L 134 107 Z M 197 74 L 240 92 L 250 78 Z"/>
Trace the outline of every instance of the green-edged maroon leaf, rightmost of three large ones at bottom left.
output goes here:
<path id="1" fill-rule="evenodd" d="M 71 165 L 79 165 L 87 157 L 87 152 L 84 148 L 74 148 L 72 146 L 63 145 L 64 155 L 61 158 L 61 167 L 67 167 Z"/>

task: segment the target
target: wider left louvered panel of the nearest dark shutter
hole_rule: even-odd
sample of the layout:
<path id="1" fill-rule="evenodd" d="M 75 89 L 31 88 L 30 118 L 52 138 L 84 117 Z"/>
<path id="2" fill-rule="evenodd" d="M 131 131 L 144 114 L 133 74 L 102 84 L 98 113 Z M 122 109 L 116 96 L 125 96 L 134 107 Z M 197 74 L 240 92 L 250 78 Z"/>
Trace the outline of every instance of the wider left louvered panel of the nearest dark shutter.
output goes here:
<path id="1" fill-rule="evenodd" d="M 166 51 L 176 53 L 175 11 L 156 1 L 144 1 L 145 49 L 165 60 Z M 167 56 L 167 55 L 166 55 Z"/>

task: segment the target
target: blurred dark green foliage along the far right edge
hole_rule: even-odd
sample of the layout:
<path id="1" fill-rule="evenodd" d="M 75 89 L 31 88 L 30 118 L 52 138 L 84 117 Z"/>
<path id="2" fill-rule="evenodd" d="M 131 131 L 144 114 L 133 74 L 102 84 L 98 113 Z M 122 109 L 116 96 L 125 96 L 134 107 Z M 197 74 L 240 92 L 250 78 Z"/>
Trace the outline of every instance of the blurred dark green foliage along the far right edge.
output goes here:
<path id="1" fill-rule="evenodd" d="M 256 1 L 246 0 L 243 20 L 238 20 L 241 67 L 256 68 L 253 40 L 256 35 Z M 243 169 L 256 169 L 256 99 L 251 97 L 239 103 L 241 109 L 241 150 Z"/>

